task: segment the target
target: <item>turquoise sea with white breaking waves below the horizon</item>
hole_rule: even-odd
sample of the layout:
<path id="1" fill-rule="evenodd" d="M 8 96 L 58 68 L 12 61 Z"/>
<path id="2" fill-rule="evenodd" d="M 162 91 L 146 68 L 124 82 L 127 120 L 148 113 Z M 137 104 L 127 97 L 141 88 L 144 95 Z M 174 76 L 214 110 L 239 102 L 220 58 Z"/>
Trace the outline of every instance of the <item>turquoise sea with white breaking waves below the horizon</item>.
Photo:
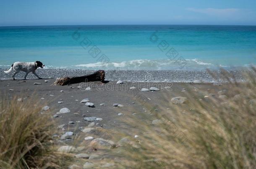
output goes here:
<path id="1" fill-rule="evenodd" d="M 16 61 L 89 70 L 241 69 L 256 65 L 256 26 L 0 27 L 0 67 Z"/>

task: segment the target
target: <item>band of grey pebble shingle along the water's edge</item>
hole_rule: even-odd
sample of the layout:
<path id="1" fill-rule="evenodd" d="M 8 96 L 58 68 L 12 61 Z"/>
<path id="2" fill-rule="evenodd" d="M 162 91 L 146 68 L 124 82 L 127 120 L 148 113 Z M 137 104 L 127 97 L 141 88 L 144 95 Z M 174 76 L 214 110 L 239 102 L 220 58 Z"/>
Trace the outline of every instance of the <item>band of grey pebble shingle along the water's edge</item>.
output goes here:
<path id="1" fill-rule="evenodd" d="M 12 79 L 12 73 L 5 74 L 5 69 L 0 68 L 0 79 L 8 80 Z M 37 74 L 41 78 L 60 78 L 60 77 L 75 77 L 84 76 L 86 74 L 94 73 L 94 70 L 82 70 L 82 69 L 37 69 Z M 220 71 L 211 71 L 216 77 L 220 77 Z M 245 78 L 244 73 L 248 73 L 247 70 L 230 70 L 227 71 L 236 81 L 243 82 Z M 17 80 L 23 80 L 25 72 L 18 73 L 15 78 Z M 28 79 L 37 79 L 32 73 L 27 76 Z M 221 83 L 225 79 L 219 78 L 215 80 L 206 71 L 162 71 L 162 70 L 106 70 L 105 80 L 107 81 L 127 81 L 127 82 L 172 82 L 172 83 Z"/>

